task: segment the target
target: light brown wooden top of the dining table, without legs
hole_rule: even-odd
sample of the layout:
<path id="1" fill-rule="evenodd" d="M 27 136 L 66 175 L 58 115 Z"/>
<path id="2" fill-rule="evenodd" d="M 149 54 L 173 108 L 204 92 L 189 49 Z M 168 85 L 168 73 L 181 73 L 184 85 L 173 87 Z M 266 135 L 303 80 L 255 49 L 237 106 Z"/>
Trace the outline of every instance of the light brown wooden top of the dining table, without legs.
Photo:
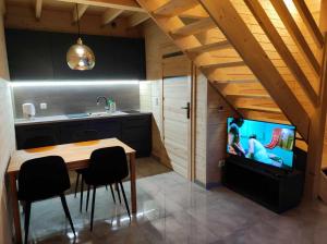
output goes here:
<path id="1" fill-rule="evenodd" d="M 16 173 L 21 166 L 33 158 L 46 156 L 61 156 L 66 163 L 88 161 L 90 154 L 98 148 L 121 146 L 126 155 L 134 154 L 135 150 L 122 143 L 118 138 L 107 138 L 98 141 L 88 141 L 72 144 L 62 144 L 56 146 L 39 147 L 33 149 L 16 150 L 13 152 L 7 173 Z"/>

